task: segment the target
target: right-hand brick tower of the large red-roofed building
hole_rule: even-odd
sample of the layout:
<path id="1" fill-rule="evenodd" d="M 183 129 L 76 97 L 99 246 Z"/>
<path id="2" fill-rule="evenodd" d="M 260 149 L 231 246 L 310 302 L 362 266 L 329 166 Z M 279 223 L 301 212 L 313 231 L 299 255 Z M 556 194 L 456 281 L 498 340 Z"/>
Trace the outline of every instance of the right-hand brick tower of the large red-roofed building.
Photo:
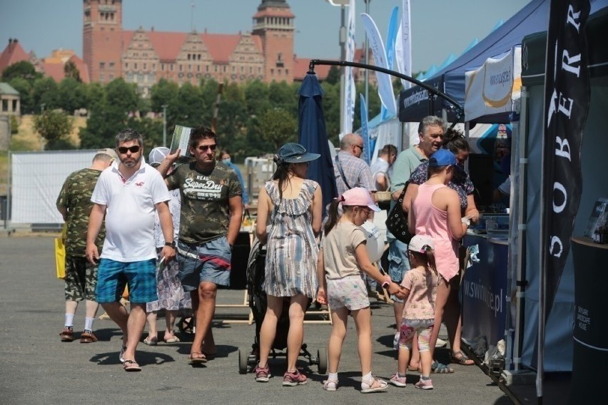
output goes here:
<path id="1" fill-rule="evenodd" d="M 253 34 L 262 40 L 266 81 L 293 82 L 294 20 L 285 0 L 262 0 L 253 16 Z"/>

